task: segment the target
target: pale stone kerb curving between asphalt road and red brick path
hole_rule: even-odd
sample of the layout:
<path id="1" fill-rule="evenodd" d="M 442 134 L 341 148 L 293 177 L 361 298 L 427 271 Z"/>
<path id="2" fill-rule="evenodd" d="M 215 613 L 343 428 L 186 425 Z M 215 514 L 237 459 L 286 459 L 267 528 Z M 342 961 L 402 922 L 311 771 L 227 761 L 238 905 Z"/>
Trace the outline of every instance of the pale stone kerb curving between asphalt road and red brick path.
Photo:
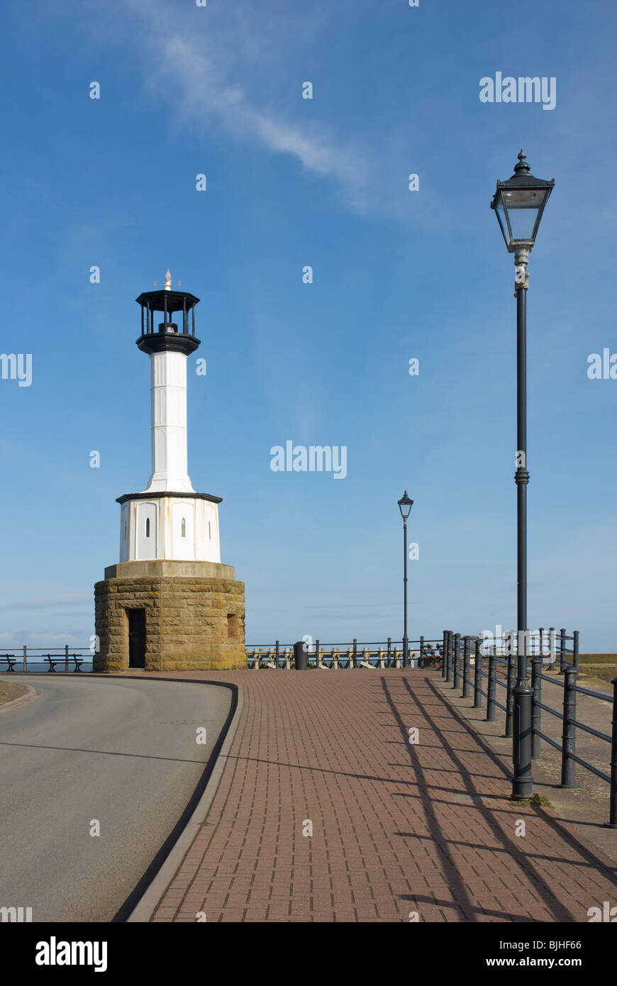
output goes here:
<path id="1" fill-rule="evenodd" d="M 127 917 L 125 922 L 126 924 L 144 923 L 150 921 L 159 901 L 163 897 L 165 891 L 171 883 L 171 880 L 173 880 L 175 874 L 181 866 L 182 860 L 186 856 L 186 853 L 192 846 L 201 823 L 205 820 L 206 815 L 210 810 L 214 796 L 216 795 L 219 784 L 221 783 L 223 771 L 227 765 L 229 753 L 236 736 L 236 731 L 238 730 L 240 716 L 244 706 L 243 688 L 241 684 L 237 684 L 236 687 L 238 688 L 236 711 L 232 722 L 229 725 L 225 740 L 223 740 L 221 752 L 217 757 L 217 761 L 212 769 L 212 773 L 210 774 L 204 792 L 199 799 L 196 809 L 193 811 L 190 818 L 186 822 L 186 825 L 177 837 L 163 866 Z"/>

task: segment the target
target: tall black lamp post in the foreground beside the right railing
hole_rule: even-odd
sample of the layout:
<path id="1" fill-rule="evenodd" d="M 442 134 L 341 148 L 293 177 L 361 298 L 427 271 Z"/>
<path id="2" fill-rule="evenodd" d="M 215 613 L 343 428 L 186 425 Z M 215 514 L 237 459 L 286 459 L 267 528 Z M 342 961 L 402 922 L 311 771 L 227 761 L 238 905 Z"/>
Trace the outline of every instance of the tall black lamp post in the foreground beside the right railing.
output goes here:
<path id="1" fill-rule="evenodd" d="M 526 369 L 526 296 L 527 262 L 535 245 L 544 206 L 553 190 L 555 179 L 544 181 L 529 174 L 523 151 L 518 155 L 514 175 L 498 181 L 491 202 L 504 240 L 514 253 L 514 297 L 516 299 L 516 516 L 517 516 L 517 670 L 514 696 L 513 798 L 520 801 L 533 793 L 531 777 L 531 697 L 527 680 L 527 369 Z"/>

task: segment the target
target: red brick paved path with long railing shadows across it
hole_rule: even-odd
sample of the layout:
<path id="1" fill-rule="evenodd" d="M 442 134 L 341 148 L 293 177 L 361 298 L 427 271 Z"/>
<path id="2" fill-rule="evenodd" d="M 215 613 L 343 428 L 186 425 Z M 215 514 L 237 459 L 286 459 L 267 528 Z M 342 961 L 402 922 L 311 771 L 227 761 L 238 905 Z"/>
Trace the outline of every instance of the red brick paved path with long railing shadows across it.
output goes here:
<path id="1" fill-rule="evenodd" d="M 238 682 L 244 707 L 207 824 L 153 920 L 586 922 L 617 904 L 608 861 L 509 802 L 507 766 L 437 674 L 170 675 Z"/>

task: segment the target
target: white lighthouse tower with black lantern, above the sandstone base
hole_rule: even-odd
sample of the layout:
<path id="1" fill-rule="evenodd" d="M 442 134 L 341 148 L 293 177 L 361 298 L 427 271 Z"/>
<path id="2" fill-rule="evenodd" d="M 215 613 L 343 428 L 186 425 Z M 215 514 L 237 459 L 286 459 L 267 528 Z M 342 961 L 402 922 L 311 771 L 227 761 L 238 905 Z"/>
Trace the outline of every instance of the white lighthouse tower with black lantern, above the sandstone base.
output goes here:
<path id="1" fill-rule="evenodd" d="M 137 345 L 150 356 L 152 474 L 146 490 L 118 497 L 120 562 L 221 561 L 221 498 L 196 493 L 187 471 L 186 360 L 200 343 L 195 337 L 198 302 L 194 295 L 171 290 L 169 270 L 165 290 L 137 299 L 142 313 Z M 157 312 L 163 321 L 155 330 Z M 180 332 L 174 312 L 181 313 Z"/>

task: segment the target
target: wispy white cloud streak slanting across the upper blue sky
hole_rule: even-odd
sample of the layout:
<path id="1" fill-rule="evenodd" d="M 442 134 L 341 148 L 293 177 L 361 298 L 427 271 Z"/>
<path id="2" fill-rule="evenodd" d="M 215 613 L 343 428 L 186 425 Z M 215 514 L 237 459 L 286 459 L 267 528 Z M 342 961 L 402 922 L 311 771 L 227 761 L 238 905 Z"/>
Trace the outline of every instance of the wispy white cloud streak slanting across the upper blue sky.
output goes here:
<path id="1" fill-rule="evenodd" d="M 275 154 L 295 158 L 309 174 L 334 180 L 346 204 L 363 211 L 372 183 L 366 149 L 314 121 L 290 120 L 284 98 L 275 108 L 267 105 L 267 97 L 257 105 L 251 93 L 256 78 L 268 78 L 275 45 L 280 48 L 298 37 L 298 13 L 281 13 L 274 25 L 262 14 L 251 16 L 245 7 L 208 21 L 198 14 L 197 8 L 178 11 L 177 4 L 167 0 L 123 0 L 104 11 L 109 19 L 106 30 L 100 10 L 93 12 L 92 23 L 100 40 L 130 39 L 143 63 L 144 84 L 163 98 L 168 120 L 193 128 L 198 123 L 204 137 L 216 125 L 237 139 L 254 138 Z M 318 23 L 316 16 L 314 22 L 307 19 L 303 36 L 310 36 Z"/>

